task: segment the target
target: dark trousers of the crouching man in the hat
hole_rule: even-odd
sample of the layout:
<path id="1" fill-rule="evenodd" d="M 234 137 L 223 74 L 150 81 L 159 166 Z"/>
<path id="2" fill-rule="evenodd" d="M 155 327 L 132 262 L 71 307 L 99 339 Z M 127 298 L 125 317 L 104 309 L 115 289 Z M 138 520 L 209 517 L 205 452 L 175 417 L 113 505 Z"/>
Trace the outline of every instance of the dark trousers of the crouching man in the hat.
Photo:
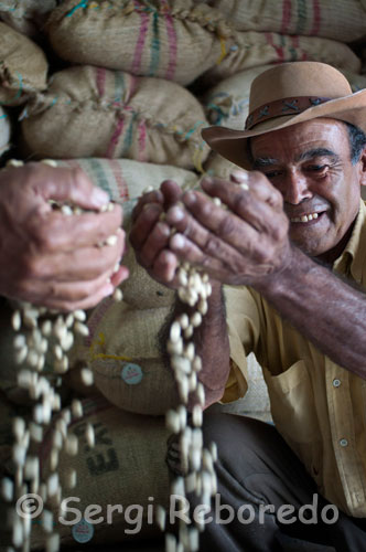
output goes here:
<path id="1" fill-rule="evenodd" d="M 335 508 L 319 495 L 315 482 L 272 425 L 245 416 L 207 414 L 204 442 L 215 442 L 218 447 L 219 502 L 212 501 L 207 517 L 213 521 L 205 524 L 200 551 L 366 552 L 366 519 L 351 518 L 337 509 L 332 513 Z M 180 471 L 174 439 L 166 461 L 171 471 Z M 306 508 L 316 503 L 314 496 L 317 508 Z M 200 500 L 189 498 L 192 512 Z M 240 517 L 223 523 L 225 507 L 223 510 L 220 505 L 235 512 L 241 507 Z M 284 516 L 283 505 L 291 505 L 293 512 Z M 289 523 L 289 519 L 293 521 Z"/>

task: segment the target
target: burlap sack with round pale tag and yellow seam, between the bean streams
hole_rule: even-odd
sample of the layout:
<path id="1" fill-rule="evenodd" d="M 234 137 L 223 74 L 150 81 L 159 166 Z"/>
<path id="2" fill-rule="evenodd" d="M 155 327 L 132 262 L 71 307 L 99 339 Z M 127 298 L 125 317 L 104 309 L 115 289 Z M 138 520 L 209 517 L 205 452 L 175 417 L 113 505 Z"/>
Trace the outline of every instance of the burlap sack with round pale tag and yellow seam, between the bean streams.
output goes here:
<path id="1" fill-rule="evenodd" d="M 159 332 L 170 307 L 133 309 L 105 299 L 88 319 L 89 336 L 73 350 L 72 363 L 93 369 L 96 388 L 120 408 L 160 415 L 177 402 L 173 373 L 165 367 Z"/>

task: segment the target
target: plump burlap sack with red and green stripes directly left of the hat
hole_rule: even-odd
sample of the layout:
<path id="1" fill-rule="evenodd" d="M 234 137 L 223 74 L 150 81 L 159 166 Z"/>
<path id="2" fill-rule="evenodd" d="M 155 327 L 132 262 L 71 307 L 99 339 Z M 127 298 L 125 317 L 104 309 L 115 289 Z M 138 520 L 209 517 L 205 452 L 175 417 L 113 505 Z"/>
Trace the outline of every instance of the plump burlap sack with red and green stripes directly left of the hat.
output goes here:
<path id="1" fill-rule="evenodd" d="M 128 158 L 200 169 L 208 155 L 201 137 L 206 125 L 198 100 L 175 83 L 71 67 L 26 105 L 22 141 L 35 158 Z"/>

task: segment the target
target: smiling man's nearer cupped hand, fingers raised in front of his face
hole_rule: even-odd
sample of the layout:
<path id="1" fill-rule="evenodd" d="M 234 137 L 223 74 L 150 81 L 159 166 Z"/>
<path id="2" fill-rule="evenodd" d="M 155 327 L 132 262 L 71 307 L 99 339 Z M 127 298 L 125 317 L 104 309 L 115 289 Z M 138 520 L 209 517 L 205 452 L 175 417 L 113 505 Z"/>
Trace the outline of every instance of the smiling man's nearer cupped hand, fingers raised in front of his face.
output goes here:
<path id="1" fill-rule="evenodd" d="M 185 209 L 175 205 L 166 213 L 166 222 L 177 230 L 169 247 L 223 284 L 260 285 L 289 262 L 289 220 L 280 192 L 263 174 L 243 173 L 232 180 L 202 181 L 206 194 L 219 198 L 229 211 L 200 192 L 182 195 Z M 240 180 L 248 189 L 238 185 Z"/>

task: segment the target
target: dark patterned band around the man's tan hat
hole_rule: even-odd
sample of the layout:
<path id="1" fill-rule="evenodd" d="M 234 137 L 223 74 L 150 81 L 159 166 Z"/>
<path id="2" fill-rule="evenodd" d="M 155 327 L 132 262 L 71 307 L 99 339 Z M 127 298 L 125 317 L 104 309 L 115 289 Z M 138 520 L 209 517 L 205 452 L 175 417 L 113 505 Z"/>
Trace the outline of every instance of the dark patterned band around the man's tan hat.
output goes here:
<path id="1" fill-rule="evenodd" d="M 305 109 L 309 109 L 309 107 L 324 104 L 330 99 L 332 98 L 323 98 L 319 96 L 298 96 L 276 99 L 274 102 L 270 102 L 269 104 L 258 107 L 250 115 L 248 115 L 245 129 L 249 130 L 255 125 L 258 125 L 258 123 L 262 123 L 267 119 L 282 117 L 283 115 L 297 115 Z"/>

